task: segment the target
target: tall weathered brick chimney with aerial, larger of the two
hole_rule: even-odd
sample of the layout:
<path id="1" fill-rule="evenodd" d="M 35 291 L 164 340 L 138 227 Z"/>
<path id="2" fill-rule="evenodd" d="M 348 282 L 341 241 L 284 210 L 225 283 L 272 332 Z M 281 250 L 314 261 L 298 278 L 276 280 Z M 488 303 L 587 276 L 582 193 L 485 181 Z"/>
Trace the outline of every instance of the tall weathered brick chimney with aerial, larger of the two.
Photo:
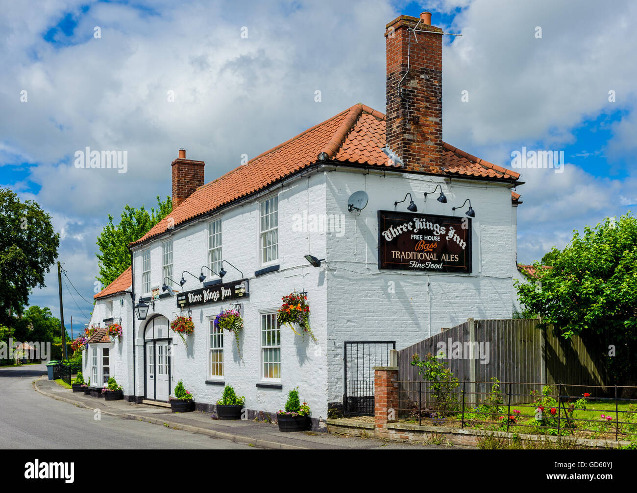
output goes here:
<path id="1" fill-rule="evenodd" d="M 387 24 L 387 147 L 404 169 L 442 171 L 442 34 L 431 13 Z M 415 31 L 414 31 L 415 29 Z"/>

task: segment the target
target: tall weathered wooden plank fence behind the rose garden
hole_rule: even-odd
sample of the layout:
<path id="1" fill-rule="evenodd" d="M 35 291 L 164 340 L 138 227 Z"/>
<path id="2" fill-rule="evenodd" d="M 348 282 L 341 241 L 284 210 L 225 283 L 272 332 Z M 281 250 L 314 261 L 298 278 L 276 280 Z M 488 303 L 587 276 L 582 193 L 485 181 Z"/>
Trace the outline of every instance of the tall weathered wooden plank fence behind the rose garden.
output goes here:
<path id="1" fill-rule="evenodd" d="M 563 388 L 564 393 L 573 396 L 587 392 L 582 387 L 573 385 L 608 385 L 604 365 L 605 349 L 599 344 L 599 340 L 587 342 L 578 336 L 567 340 L 556 333 L 552 326 L 547 330 L 538 329 L 538 323 L 538 319 L 469 319 L 455 327 L 444 329 L 440 334 L 398 351 L 399 380 L 422 382 L 423 378 L 418 374 L 419 368 L 411 365 L 412 355 L 418 354 L 424 359 L 429 352 L 436 354 L 438 343 L 445 342 L 448 346 L 451 341 L 461 343 L 463 349 L 468 347 L 465 344 L 489 343 L 488 364 L 481 364 L 479 346 L 478 354 L 474 354 L 473 359 L 469 359 L 464 351 L 463 358 L 451 358 L 452 348 L 447 347 L 448 359 L 444 361 L 458 380 L 482 382 L 473 384 L 472 388 L 466 386 L 469 403 L 477 404 L 487 397 L 492 385 L 491 378 L 497 378 L 501 382 L 528 384 L 516 385 L 515 393 L 519 395 L 512 396 L 512 403 L 529 402 L 531 391 L 541 391 L 543 384 L 571 384 Z M 483 346 L 485 349 L 486 347 Z M 472 369 L 475 378 L 471 378 Z M 545 375 L 546 382 L 542 382 L 542 375 Z M 611 390 L 608 387 L 606 392 Z M 503 385 L 501 392 L 505 403 L 508 397 L 506 391 Z"/>

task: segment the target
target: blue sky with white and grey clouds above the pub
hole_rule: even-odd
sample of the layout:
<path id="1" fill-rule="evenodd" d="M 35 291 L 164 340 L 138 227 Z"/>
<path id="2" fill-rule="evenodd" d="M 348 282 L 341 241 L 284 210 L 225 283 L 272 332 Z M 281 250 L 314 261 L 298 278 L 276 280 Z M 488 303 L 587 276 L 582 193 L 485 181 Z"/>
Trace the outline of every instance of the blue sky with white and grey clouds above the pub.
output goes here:
<path id="1" fill-rule="evenodd" d="M 523 147 L 564 151 L 562 174 L 518 170 L 526 181 L 517 190 L 520 263 L 637 203 L 637 12 L 627 0 L 612 11 L 588 0 L 35 4 L 29 18 L 9 4 L 0 20 L 0 101 L 10 115 L 0 122 L 0 186 L 52 214 L 61 261 L 87 299 L 107 214 L 169 195 L 176 149 L 205 160 L 210 181 L 241 154 L 355 102 L 384 111 L 383 31 L 399 14 L 431 10 L 434 25 L 462 34 L 443 41 L 445 141 L 505 167 Z M 71 156 L 85 146 L 127 149 L 129 172 L 78 173 Z M 31 302 L 57 314 L 53 274 Z M 67 317 L 82 318 L 66 304 Z"/>

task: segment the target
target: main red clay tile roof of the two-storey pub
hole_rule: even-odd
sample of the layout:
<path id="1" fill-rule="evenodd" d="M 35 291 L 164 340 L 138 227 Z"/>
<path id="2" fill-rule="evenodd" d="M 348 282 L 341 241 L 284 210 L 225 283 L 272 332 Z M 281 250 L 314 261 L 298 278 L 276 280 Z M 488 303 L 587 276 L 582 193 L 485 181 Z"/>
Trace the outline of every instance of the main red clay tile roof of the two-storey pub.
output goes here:
<path id="1" fill-rule="evenodd" d="M 355 104 L 323 123 L 308 128 L 195 190 L 166 218 L 131 245 L 168 230 L 168 217 L 179 225 L 189 219 L 245 197 L 269 184 L 322 160 L 396 168 L 383 151 L 385 115 L 364 104 Z M 515 181 L 519 173 L 494 165 L 443 142 L 445 174 Z M 108 288 L 107 288 L 108 289 Z M 101 296 L 98 293 L 95 297 Z"/>

